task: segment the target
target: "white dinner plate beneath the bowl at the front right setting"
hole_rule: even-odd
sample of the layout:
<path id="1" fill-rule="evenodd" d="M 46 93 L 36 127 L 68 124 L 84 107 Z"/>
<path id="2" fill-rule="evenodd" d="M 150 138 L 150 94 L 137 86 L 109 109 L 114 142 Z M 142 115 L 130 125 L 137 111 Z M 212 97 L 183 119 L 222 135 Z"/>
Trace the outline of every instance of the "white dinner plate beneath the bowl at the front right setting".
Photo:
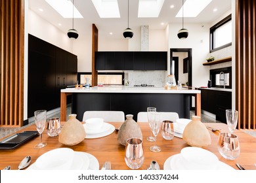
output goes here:
<path id="1" fill-rule="evenodd" d="M 172 163 L 171 163 L 171 161 L 172 161 L 173 158 L 175 158 L 175 161 L 176 161 L 176 162 L 172 162 Z M 174 170 L 174 168 L 171 167 L 171 165 L 172 165 L 173 163 L 179 163 L 179 162 L 177 161 L 178 158 L 179 158 L 179 154 L 175 154 L 175 155 L 170 156 L 169 158 L 167 158 L 167 159 L 165 160 L 165 163 L 163 164 L 163 169 L 164 169 L 164 170 Z M 181 169 L 182 169 L 182 164 L 175 165 L 175 168 L 181 170 Z M 216 170 L 234 170 L 234 168 L 233 168 L 233 167 L 230 167 L 230 165 L 227 165 L 226 163 L 223 163 L 222 161 L 219 161 L 219 164 L 218 164 L 218 167 L 217 167 Z"/>

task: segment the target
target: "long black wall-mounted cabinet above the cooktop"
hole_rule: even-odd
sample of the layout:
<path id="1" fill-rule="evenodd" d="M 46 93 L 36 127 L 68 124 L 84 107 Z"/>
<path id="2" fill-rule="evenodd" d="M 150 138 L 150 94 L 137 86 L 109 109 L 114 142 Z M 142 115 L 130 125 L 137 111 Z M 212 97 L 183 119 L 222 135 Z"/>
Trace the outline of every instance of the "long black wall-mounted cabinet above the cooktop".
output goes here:
<path id="1" fill-rule="evenodd" d="M 167 71 L 167 52 L 95 52 L 96 70 Z"/>

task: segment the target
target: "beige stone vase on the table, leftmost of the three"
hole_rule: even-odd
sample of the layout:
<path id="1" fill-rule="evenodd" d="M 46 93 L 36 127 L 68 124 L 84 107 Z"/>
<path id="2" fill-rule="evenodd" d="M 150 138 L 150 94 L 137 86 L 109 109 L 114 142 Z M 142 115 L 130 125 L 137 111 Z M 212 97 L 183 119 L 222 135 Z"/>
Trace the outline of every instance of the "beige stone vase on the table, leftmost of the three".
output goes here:
<path id="1" fill-rule="evenodd" d="M 85 129 L 81 122 L 76 119 L 76 114 L 70 114 L 68 118 L 68 122 L 60 131 L 58 141 L 67 146 L 74 146 L 85 139 Z"/>

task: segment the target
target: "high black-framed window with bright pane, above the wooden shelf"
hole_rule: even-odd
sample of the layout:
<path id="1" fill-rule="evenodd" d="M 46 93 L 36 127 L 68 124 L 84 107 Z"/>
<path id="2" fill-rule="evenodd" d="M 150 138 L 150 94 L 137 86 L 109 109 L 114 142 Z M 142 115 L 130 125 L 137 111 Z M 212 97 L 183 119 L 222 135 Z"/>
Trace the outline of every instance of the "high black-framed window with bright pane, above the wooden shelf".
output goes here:
<path id="1" fill-rule="evenodd" d="M 231 14 L 210 28 L 210 52 L 228 47 L 232 42 Z"/>

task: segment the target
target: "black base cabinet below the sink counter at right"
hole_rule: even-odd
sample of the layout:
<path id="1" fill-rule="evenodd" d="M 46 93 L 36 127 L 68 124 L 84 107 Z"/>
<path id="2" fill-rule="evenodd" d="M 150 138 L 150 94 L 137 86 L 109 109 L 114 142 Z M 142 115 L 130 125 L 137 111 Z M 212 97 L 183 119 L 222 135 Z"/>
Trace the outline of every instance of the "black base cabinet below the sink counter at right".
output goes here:
<path id="1" fill-rule="evenodd" d="M 226 123 L 226 109 L 232 108 L 232 92 L 201 89 L 202 110 L 216 115 L 216 120 Z"/>

